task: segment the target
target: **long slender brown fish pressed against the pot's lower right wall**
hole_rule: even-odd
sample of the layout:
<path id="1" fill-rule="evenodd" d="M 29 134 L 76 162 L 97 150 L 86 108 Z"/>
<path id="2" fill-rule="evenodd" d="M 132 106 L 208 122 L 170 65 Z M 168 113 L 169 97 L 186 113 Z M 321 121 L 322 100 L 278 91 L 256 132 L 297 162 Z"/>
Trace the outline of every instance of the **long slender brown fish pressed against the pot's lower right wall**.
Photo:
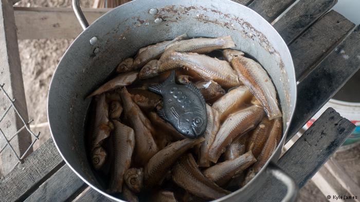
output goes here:
<path id="1" fill-rule="evenodd" d="M 266 164 L 266 161 L 270 156 L 275 152 L 276 147 L 279 145 L 282 137 L 282 120 L 281 118 L 276 118 L 272 122 L 271 131 L 266 140 L 264 148 L 262 149 L 260 155 L 257 158 L 257 162 L 253 167 L 247 172 L 243 186 L 246 185 L 255 175 L 261 170 L 261 168 Z"/>

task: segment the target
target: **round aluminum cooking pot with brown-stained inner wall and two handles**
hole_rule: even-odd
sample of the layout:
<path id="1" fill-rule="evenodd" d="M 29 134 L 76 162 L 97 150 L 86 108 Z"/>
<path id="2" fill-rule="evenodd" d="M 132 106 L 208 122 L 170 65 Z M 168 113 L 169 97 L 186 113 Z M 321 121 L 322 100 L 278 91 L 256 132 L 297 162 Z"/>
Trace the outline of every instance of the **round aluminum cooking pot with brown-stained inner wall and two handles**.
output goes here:
<path id="1" fill-rule="evenodd" d="M 283 112 L 284 134 L 257 176 L 218 201 L 245 201 L 261 187 L 268 174 L 287 186 L 284 200 L 294 198 L 294 181 L 275 165 L 295 108 L 294 65 L 283 39 L 264 18 L 229 0 L 135 0 L 88 26 L 78 0 L 73 6 L 85 30 L 67 49 L 52 77 L 47 110 L 53 141 L 67 165 L 85 183 L 121 201 L 105 193 L 86 157 L 84 128 L 90 99 L 85 96 L 103 83 L 123 58 L 134 55 L 141 47 L 184 33 L 189 37 L 231 35 L 236 48 L 256 58 L 273 79 Z"/>

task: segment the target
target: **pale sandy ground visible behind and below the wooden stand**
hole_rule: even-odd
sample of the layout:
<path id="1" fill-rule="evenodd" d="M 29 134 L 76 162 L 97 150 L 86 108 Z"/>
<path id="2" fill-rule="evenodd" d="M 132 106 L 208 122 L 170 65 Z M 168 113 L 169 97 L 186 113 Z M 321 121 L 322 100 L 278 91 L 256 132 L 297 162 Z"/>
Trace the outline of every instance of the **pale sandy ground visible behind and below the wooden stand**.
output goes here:
<path id="1" fill-rule="evenodd" d="M 17 5 L 23 7 L 70 7 L 70 2 L 70 0 L 30 0 L 21 1 Z M 92 1 L 82 0 L 81 4 L 83 7 L 90 7 Z M 28 112 L 29 117 L 34 119 L 33 125 L 47 122 L 46 100 L 50 79 L 61 56 L 73 40 L 39 39 L 19 41 Z M 34 146 L 34 149 L 36 149 L 50 137 L 50 132 L 48 126 L 32 127 L 32 129 L 34 132 L 42 132 L 40 140 Z M 357 150 L 354 154 L 359 155 L 359 153 Z M 359 159 L 358 156 L 357 159 Z M 351 168 L 349 167 L 347 170 L 351 171 Z M 357 178 L 356 181 L 358 182 L 359 179 Z M 298 201 L 327 201 L 327 199 L 313 183 L 309 182 L 300 190 Z"/>

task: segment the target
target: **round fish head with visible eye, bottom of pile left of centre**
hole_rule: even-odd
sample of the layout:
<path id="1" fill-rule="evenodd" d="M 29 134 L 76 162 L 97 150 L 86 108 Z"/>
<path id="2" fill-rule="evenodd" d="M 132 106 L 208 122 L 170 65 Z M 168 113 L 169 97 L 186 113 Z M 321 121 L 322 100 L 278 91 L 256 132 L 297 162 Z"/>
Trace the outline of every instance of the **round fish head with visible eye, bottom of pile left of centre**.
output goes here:
<path id="1" fill-rule="evenodd" d="M 128 188 L 139 193 L 143 187 L 144 172 L 142 168 L 130 168 L 124 174 L 124 180 Z"/>

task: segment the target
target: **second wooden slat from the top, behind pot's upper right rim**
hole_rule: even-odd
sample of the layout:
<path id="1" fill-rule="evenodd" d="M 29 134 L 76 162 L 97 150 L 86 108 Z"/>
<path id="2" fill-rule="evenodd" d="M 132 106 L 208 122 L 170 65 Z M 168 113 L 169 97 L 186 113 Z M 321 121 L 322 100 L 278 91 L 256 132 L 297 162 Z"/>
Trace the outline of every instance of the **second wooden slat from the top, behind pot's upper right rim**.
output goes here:
<path id="1" fill-rule="evenodd" d="M 301 0 L 275 22 L 274 28 L 289 44 L 336 3 L 337 0 Z"/>

